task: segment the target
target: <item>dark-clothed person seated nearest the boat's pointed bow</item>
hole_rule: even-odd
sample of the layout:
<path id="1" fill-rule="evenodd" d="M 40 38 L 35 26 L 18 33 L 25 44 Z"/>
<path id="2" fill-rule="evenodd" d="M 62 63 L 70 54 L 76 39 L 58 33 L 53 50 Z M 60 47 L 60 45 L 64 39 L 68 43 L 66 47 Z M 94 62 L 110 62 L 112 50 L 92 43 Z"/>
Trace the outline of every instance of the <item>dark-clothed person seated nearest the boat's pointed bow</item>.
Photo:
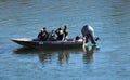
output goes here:
<path id="1" fill-rule="evenodd" d="M 46 27 L 43 27 L 43 28 L 41 29 L 41 31 L 39 32 L 39 35 L 38 35 L 38 39 L 39 39 L 40 41 L 47 41 L 47 40 L 48 40 L 48 37 L 49 37 L 49 34 L 48 34 Z"/>

